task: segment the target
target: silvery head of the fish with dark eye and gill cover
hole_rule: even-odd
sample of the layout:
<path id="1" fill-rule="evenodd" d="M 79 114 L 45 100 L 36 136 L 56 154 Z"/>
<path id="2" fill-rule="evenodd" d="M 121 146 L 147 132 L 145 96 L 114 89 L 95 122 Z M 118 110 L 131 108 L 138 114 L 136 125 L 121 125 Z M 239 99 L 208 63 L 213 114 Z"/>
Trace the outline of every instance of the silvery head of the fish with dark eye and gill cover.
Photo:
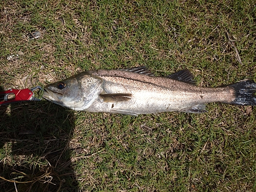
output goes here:
<path id="1" fill-rule="evenodd" d="M 44 88 L 42 97 L 76 111 L 86 110 L 101 92 L 101 79 L 80 73 Z"/>

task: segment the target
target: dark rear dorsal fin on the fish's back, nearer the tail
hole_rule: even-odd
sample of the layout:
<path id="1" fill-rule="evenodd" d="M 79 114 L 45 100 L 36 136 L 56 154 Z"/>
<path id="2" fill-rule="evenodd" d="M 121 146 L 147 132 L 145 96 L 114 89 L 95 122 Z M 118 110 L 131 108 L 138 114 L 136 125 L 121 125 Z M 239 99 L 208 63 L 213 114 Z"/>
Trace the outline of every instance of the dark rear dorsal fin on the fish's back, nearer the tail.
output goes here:
<path id="1" fill-rule="evenodd" d="M 194 75 L 192 73 L 190 73 L 190 71 L 188 71 L 187 69 L 178 71 L 174 74 L 171 75 L 167 75 L 165 76 L 167 78 L 170 79 L 175 79 L 178 81 L 182 81 L 182 82 L 186 82 L 186 83 L 190 83 L 190 84 L 197 84 L 197 81 L 194 79 Z"/>

